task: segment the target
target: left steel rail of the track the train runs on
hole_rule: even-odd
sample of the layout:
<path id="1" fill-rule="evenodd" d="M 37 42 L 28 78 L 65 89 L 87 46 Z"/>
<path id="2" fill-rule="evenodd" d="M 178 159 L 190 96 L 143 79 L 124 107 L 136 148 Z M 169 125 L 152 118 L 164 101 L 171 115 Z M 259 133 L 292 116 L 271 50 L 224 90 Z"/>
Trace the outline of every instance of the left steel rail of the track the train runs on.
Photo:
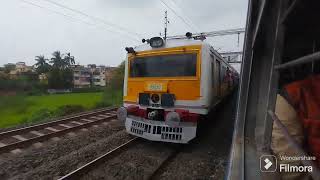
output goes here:
<path id="1" fill-rule="evenodd" d="M 120 154 L 124 150 L 128 149 L 130 146 L 137 143 L 138 137 L 131 139 L 130 141 L 118 146 L 117 148 L 103 154 L 102 156 L 94 159 L 93 161 L 81 166 L 80 168 L 70 172 L 69 174 L 59 178 L 58 180 L 72 180 L 72 179 L 79 179 L 85 173 L 89 172 L 90 170 L 96 168 L 106 160 L 114 158 L 116 155 Z"/>

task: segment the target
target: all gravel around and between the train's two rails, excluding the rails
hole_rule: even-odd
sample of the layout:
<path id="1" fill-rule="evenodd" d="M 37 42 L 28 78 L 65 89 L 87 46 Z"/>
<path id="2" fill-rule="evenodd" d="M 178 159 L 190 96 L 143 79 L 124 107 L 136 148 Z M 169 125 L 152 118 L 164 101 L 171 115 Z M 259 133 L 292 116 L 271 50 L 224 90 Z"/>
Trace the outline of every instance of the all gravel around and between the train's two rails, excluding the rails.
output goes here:
<path id="1" fill-rule="evenodd" d="M 179 153 L 153 179 L 223 179 L 228 164 L 235 115 L 235 96 L 229 97 L 209 118 L 199 137 L 180 146 Z M 132 137 L 118 122 L 44 142 L 18 154 L 0 155 L 1 179 L 58 179 L 113 150 Z M 82 179 L 148 179 L 179 145 L 139 142 L 103 162 Z"/>

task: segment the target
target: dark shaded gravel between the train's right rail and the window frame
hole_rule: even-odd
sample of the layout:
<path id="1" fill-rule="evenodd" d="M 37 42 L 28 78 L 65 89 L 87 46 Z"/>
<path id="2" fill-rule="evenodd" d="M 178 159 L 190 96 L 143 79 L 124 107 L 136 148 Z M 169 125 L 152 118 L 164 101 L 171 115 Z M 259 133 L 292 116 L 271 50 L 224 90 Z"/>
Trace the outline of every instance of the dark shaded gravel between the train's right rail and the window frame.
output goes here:
<path id="1" fill-rule="evenodd" d="M 199 138 L 184 148 L 154 179 L 224 179 L 232 143 L 236 93 L 209 115 Z"/>

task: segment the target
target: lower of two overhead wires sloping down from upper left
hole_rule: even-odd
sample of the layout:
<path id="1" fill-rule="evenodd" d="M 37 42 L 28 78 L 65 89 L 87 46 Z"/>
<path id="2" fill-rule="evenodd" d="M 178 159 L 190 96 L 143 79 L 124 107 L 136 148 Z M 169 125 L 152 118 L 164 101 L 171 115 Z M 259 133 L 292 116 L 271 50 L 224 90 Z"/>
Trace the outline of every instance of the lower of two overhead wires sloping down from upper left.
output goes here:
<path id="1" fill-rule="evenodd" d="M 113 31 L 113 30 L 107 29 L 107 28 L 105 28 L 105 27 L 98 26 L 98 24 L 88 23 L 88 22 L 86 22 L 86 21 L 83 21 L 83 20 L 81 20 L 81 19 L 75 18 L 75 17 L 73 17 L 73 16 L 70 16 L 70 15 L 67 15 L 67 14 L 64 14 L 64 13 L 61 13 L 61 12 L 59 12 L 59 11 L 55 11 L 55 10 L 49 9 L 49 8 L 47 8 L 47 7 L 44 7 L 44 6 L 40 6 L 40 5 L 36 4 L 36 3 L 30 2 L 30 1 L 26 1 L 26 0 L 20 0 L 20 1 L 21 1 L 21 2 L 24 2 L 24 3 L 26 3 L 26 4 L 29 4 L 29 5 L 32 5 L 32 6 L 41 8 L 41 9 L 45 9 L 45 10 L 51 12 L 51 13 L 64 16 L 64 17 L 68 18 L 69 20 L 82 22 L 82 23 L 87 24 L 87 25 L 90 25 L 90 26 L 95 26 L 95 27 L 97 27 L 97 28 L 103 28 L 103 30 L 107 30 L 107 31 L 109 31 L 109 32 L 111 32 L 111 33 L 117 33 L 117 34 L 119 34 L 119 32 L 117 32 L 117 31 Z M 123 35 L 123 34 L 122 34 L 122 35 Z M 139 41 L 138 39 L 136 39 L 136 38 L 134 38 L 134 37 L 132 37 L 132 36 L 128 36 L 128 35 L 126 35 L 126 36 L 129 37 L 129 38 L 131 38 L 132 40 Z"/>

